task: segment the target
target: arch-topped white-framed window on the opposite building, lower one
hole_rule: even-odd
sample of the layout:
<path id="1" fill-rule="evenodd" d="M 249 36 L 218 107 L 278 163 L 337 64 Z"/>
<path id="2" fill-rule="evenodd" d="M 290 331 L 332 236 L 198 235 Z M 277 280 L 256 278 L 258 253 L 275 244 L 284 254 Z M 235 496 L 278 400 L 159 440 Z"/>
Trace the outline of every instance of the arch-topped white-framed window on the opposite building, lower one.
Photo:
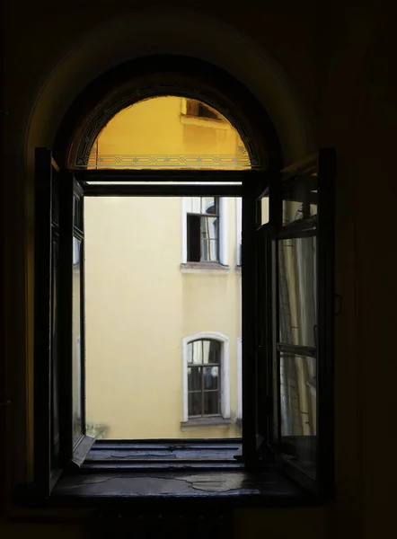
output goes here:
<path id="1" fill-rule="evenodd" d="M 229 339 L 200 332 L 182 340 L 182 421 L 230 418 Z"/>

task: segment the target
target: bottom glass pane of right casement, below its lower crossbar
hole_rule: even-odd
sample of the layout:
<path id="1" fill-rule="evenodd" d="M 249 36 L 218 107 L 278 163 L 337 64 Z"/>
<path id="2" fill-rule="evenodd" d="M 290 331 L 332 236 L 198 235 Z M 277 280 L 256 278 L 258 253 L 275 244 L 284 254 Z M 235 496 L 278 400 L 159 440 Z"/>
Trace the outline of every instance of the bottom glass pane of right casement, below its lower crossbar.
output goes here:
<path id="1" fill-rule="evenodd" d="M 315 475 L 317 435 L 316 359 L 280 354 L 280 413 L 283 452 Z"/>

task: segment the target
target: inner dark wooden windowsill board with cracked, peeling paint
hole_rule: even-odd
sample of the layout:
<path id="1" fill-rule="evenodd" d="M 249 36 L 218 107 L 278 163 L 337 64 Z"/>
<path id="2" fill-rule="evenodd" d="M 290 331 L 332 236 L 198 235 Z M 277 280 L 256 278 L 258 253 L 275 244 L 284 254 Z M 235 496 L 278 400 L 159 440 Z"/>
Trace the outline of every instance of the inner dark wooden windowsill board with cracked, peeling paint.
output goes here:
<path id="1" fill-rule="evenodd" d="M 189 508 L 312 507 L 313 496 L 300 490 L 277 466 L 246 471 L 178 471 L 75 473 L 62 477 L 51 496 L 25 495 L 26 508 L 93 508 L 119 515 L 139 511 L 184 511 Z"/>

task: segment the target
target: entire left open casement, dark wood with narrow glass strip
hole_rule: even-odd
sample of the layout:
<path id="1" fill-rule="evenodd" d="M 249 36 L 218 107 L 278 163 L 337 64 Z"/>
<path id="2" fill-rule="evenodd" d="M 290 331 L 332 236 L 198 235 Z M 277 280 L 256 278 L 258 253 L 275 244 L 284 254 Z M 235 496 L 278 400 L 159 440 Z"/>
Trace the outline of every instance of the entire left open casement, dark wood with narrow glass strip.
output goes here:
<path id="1" fill-rule="evenodd" d="M 94 440 L 84 430 L 83 192 L 49 150 L 37 148 L 35 163 L 34 474 L 48 495 Z"/>

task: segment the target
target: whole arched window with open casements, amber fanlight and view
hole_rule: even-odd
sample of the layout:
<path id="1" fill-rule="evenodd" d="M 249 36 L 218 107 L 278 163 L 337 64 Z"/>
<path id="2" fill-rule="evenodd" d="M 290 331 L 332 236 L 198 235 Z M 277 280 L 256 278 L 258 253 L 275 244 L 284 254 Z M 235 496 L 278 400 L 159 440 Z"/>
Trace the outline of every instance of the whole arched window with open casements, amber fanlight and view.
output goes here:
<path id="1" fill-rule="evenodd" d="M 227 84 L 212 91 L 216 77 L 209 79 L 202 94 L 175 82 L 121 85 L 76 121 L 66 170 L 50 152 L 37 154 L 35 298 L 50 296 L 55 273 L 62 282 L 50 297 L 62 328 L 54 360 L 46 356 L 51 311 L 39 299 L 35 319 L 37 357 L 47 361 L 37 363 L 38 387 L 50 395 L 46 384 L 58 376 L 62 395 L 50 411 L 38 401 L 37 418 L 40 411 L 46 421 L 35 454 L 44 455 L 44 475 L 52 448 L 40 432 L 48 440 L 57 424 L 66 467 L 98 449 L 90 429 L 109 435 L 116 454 L 128 440 L 141 451 L 144 440 L 190 436 L 225 446 L 234 438 L 236 450 L 243 421 L 245 464 L 266 463 L 272 446 L 308 489 L 330 484 L 334 155 L 281 170 L 275 137 L 265 148 L 274 133 L 260 131 L 261 106 L 240 106 L 238 92 Z M 241 218 L 233 198 L 242 199 Z M 291 243 L 298 248 L 283 259 Z M 49 245 L 58 253 L 50 275 Z M 292 336 L 283 321 L 290 312 L 302 329 L 288 320 Z M 147 411 L 155 411 L 150 420 Z M 230 464 L 234 454 L 226 458 Z"/>

